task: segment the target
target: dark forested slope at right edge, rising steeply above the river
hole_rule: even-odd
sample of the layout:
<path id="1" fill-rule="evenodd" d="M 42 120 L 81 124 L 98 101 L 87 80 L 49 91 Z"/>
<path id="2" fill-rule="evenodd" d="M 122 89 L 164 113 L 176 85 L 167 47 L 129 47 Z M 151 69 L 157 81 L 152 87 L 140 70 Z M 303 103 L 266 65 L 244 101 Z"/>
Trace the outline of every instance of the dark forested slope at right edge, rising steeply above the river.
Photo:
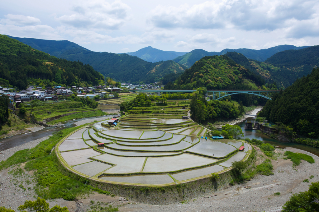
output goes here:
<path id="1" fill-rule="evenodd" d="M 258 116 L 289 125 L 303 136 L 319 138 L 319 68 L 275 94 Z"/>

